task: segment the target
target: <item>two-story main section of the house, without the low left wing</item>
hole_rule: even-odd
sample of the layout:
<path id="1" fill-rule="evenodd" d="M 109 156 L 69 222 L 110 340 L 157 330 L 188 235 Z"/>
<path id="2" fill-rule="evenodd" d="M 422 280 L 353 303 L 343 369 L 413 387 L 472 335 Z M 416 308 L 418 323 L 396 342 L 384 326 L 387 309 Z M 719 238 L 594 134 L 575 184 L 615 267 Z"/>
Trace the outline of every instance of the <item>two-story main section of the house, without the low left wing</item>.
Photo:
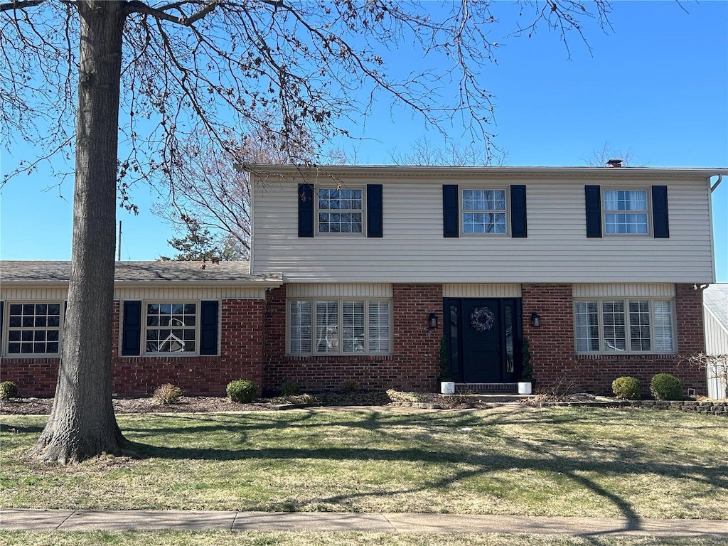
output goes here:
<path id="1" fill-rule="evenodd" d="M 309 389 L 611 392 L 703 350 L 715 170 L 258 166 L 251 271 L 269 292 L 264 375 Z M 444 340 L 443 355 L 440 343 Z"/>

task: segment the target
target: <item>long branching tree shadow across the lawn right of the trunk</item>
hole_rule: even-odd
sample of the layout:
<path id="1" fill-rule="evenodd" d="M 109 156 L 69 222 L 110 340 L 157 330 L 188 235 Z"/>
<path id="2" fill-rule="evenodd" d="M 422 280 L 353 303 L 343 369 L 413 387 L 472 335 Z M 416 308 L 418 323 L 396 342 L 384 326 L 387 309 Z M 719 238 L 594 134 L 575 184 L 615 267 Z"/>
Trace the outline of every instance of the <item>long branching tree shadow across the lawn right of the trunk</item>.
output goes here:
<path id="1" fill-rule="evenodd" d="M 527 471 L 549 472 L 563 475 L 580 488 L 604 499 L 619 510 L 623 518 L 628 518 L 626 529 L 639 529 L 638 512 L 628 499 L 623 498 L 614 491 L 601 486 L 593 477 L 602 475 L 662 475 L 669 478 L 680 478 L 701 483 L 714 488 L 728 488 L 728 465 L 719 467 L 705 467 L 698 464 L 679 464 L 669 462 L 649 462 L 645 464 L 644 458 L 649 456 L 649 446 L 641 448 L 639 445 L 619 445 L 615 440 L 605 440 L 604 443 L 592 443 L 593 438 L 580 438 L 568 425 L 572 422 L 583 423 L 585 416 L 571 416 L 548 413 L 535 413 L 520 416 L 518 414 L 341 414 L 327 416 L 327 419 L 314 419 L 314 412 L 297 412 L 285 417 L 276 414 L 264 416 L 187 416 L 181 422 L 172 426 L 172 423 L 157 428 L 145 427 L 134 429 L 144 434 L 194 434 L 194 432 L 222 432 L 237 437 L 234 448 L 205 448 L 194 446 L 167 447 L 152 446 L 146 443 L 130 442 L 130 449 L 144 458 L 173 459 L 173 460 L 211 460 L 211 461 L 244 461 L 244 460 L 283 460 L 293 461 L 305 459 L 308 461 L 392 461 L 412 464 L 445 465 L 447 472 L 432 472 L 430 479 L 409 488 L 387 490 L 377 488 L 375 491 L 351 491 L 344 494 L 335 494 L 315 499 L 298 499 L 297 505 L 288 502 L 273 507 L 266 506 L 264 510 L 296 510 L 304 505 L 339 505 L 347 507 L 356 499 L 368 497 L 386 497 L 402 494 L 424 494 L 428 490 L 447 490 L 457 483 L 470 478 L 487 475 L 499 471 Z M 588 419 L 592 419 L 589 417 Z M 601 417 L 593 419 L 598 421 Z M 195 424 L 197 423 L 197 424 Z M 531 438 L 507 438 L 502 444 L 502 435 L 498 427 L 513 424 L 529 424 L 535 431 Z M 594 424 L 597 424 L 596 422 Z M 190 426 L 191 425 L 191 426 Z M 558 438 L 539 438 L 538 427 L 553 427 L 558 429 Z M 304 447 L 261 447 L 248 448 L 246 442 L 250 432 L 255 430 L 268 430 L 289 427 L 304 427 L 306 435 L 310 438 L 325 438 L 331 433 L 333 427 L 358 427 L 374 433 L 377 441 L 368 439 L 368 446 L 331 447 L 331 446 L 304 446 Z M 398 427 L 406 427 L 399 429 Z M 430 432 L 427 427 L 430 427 Z M 462 443 L 456 441 L 451 435 L 462 435 L 462 430 L 478 427 L 478 435 Z M 397 448 L 398 430 L 414 430 L 409 432 L 404 441 L 408 448 Z M 450 438 L 450 441 L 448 441 Z M 489 445 L 493 440 L 493 445 Z M 477 440 L 477 441 L 476 441 Z M 499 445 L 494 445 L 501 440 Z M 301 442 L 299 436 L 296 442 Z M 395 444 L 386 448 L 385 443 Z M 474 443 L 475 442 L 475 443 Z M 478 443 L 479 442 L 479 443 Z M 312 440 L 313 443 L 313 440 Z M 300 444 L 299 444 L 300 445 Z M 414 446 L 413 446 L 414 445 Z M 652 453 L 650 451 L 650 453 Z M 625 478 L 628 479 L 628 478 Z"/>

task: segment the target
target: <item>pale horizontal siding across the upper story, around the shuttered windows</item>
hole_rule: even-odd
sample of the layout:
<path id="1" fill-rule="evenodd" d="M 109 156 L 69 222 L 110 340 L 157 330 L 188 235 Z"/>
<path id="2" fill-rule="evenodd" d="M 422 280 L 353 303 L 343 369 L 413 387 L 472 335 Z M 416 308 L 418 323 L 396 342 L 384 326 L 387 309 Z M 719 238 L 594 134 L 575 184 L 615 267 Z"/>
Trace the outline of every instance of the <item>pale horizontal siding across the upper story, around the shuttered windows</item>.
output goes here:
<path id="1" fill-rule="evenodd" d="M 366 181 L 354 179 L 345 185 Z M 668 181 L 670 238 L 587 239 L 584 185 L 600 180 L 514 178 L 526 184 L 528 234 L 443 237 L 442 184 L 472 180 L 376 179 L 384 194 L 384 237 L 299 238 L 297 187 L 256 186 L 253 272 L 285 282 L 713 282 L 705 181 Z M 659 180 L 638 181 L 649 187 Z M 624 186 L 620 184 L 620 186 Z"/>

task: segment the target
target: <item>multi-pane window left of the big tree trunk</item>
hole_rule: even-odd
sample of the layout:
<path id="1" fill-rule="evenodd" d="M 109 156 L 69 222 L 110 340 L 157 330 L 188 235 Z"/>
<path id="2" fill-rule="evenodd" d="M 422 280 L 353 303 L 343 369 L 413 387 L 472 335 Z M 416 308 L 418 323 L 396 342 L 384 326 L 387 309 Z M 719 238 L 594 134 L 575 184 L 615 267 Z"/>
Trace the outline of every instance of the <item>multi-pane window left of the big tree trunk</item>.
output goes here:
<path id="1" fill-rule="evenodd" d="M 7 355 L 58 355 L 62 312 L 60 303 L 9 304 Z"/>

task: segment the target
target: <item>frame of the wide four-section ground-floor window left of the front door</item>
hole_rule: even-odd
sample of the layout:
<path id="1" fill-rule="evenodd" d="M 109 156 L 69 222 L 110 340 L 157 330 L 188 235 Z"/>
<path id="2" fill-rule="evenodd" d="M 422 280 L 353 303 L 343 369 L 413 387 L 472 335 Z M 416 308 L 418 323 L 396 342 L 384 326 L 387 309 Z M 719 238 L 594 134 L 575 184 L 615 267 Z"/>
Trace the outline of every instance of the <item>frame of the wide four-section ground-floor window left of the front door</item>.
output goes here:
<path id="1" fill-rule="evenodd" d="M 293 352 L 291 350 L 291 309 L 294 303 L 299 301 L 305 301 L 309 304 L 311 309 L 311 339 L 310 345 L 311 350 L 309 352 Z M 346 302 L 360 302 L 364 304 L 364 337 L 362 340 L 363 351 L 344 351 L 344 329 L 349 326 L 344 325 L 344 303 Z M 321 332 L 318 331 L 317 327 L 317 303 L 323 302 L 336 302 L 336 325 L 328 326 L 329 331 L 327 337 L 331 339 L 325 339 L 326 347 L 330 350 L 318 350 L 319 342 L 324 341 L 321 338 Z M 387 330 L 389 337 L 387 345 L 389 349 L 387 351 L 374 351 L 370 350 L 371 343 L 371 321 L 369 306 L 371 303 L 386 303 L 389 308 L 389 322 L 387 323 Z M 286 353 L 291 356 L 341 356 L 341 357 L 352 357 L 352 356 L 367 356 L 367 355 L 392 355 L 392 344 L 394 343 L 394 336 L 392 336 L 392 325 L 393 325 L 393 303 L 392 298 L 336 298 L 331 296 L 321 296 L 314 298 L 290 298 L 286 304 L 285 313 L 285 339 L 286 339 Z M 300 337 L 300 336 L 299 336 Z"/>

